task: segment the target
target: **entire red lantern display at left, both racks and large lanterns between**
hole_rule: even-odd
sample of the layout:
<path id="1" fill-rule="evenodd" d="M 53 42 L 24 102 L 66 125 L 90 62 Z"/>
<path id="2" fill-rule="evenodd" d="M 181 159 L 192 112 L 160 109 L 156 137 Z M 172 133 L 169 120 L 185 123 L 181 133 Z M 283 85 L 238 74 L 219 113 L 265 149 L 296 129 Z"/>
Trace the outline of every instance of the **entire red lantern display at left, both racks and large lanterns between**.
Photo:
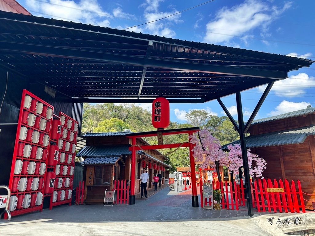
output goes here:
<path id="1" fill-rule="evenodd" d="M 60 113 L 61 118 L 65 117 L 65 124 L 53 129 L 53 116 L 53 106 L 23 90 L 9 179 L 11 216 L 42 211 L 43 198 L 50 197 L 53 200 L 55 191 L 51 187 L 56 186 L 57 179 L 57 183 L 61 182 L 58 193 L 65 197 L 61 197 L 56 204 L 51 202 L 50 209 L 54 205 L 71 205 L 78 123 Z M 62 128 L 68 132 L 61 133 Z M 59 140 L 65 143 L 62 149 L 58 146 Z M 62 153 L 66 155 L 64 161 L 60 160 Z M 60 161 L 63 161 L 62 172 L 56 175 L 56 166 Z"/>

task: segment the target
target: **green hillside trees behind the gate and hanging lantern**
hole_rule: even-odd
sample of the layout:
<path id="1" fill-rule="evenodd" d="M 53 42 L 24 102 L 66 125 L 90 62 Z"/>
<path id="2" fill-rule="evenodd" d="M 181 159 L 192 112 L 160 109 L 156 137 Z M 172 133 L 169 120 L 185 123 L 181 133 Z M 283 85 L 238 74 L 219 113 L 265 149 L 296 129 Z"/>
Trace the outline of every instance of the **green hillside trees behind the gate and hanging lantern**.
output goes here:
<path id="1" fill-rule="evenodd" d="M 156 130 L 152 126 L 151 111 L 143 109 L 135 104 L 113 103 L 105 104 L 83 104 L 83 132 L 117 132 L 130 129 L 133 132 L 145 132 Z M 238 133 L 234 130 L 232 123 L 226 116 L 210 115 L 206 110 L 192 110 L 187 115 L 187 123 L 179 124 L 170 121 L 167 129 L 180 129 L 200 126 L 210 128 L 213 136 L 218 138 L 222 144 L 230 143 L 239 139 Z M 151 145 L 157 144 L 157 137 L 144 138 Z M 188 142 L 188 134 L 164 135 L 163 143 L 184 143 Z M 174 149 L 160 149 L 166 155 Z M 189 149 L 180 148 L 174 153 L 167 155 L 167 164 L 176 167 L 188 167 Z"/>

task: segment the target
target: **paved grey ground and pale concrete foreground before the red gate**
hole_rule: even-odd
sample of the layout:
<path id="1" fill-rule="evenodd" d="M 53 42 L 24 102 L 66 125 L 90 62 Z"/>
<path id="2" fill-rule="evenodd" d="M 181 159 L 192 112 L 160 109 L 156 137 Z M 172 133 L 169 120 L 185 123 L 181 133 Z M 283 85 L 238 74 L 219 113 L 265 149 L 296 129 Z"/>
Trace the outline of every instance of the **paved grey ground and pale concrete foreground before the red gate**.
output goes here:
<path id="1" fill-rule="evenodd" d="M 288 235 L 315 228 L 315 214 L 204 210 L 192 207 L 191 190 L 181 193 L 159 188 L 135 205 L 61 205 L 0 220 L 0 235 Z M 200 200 L 200 198 L 199 198 Z M 200 203 L 199 203 L 200 205 Z M 294 219 L 300 218 L 294 224 Z M 273 218 L 272 224 L 270 218 Z M 292 222 L 281 224 L 281 222 Z"/>

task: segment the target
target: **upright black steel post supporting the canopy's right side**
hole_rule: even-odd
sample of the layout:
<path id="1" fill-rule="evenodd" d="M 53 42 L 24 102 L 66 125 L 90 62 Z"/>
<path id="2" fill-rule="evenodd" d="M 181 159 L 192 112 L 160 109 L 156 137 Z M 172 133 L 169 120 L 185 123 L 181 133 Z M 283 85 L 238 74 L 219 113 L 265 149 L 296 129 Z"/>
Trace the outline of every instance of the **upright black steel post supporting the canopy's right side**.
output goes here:
<path id="1" fill-rule="evenodd" d="M 254 210 L 253 210 L 253 199 L 252 199 L 252 194 L 251 194 L 251 182 L 250 182 L 250 176 L 249 176 L 247 147 L 246 147 L 246 141 L 245 141 L 245 135 L 244 135 L 244 119 L 243 119 L 241 92 L 236 93 L 236 106 L 237 106 L 237 113 L 238 113 L 239 136 L 241 140 L 242 159 L 243 159 L 243 168 L 244 168 L 244 177 L 245 177 L 247 212 L 248 212 L 248 215 L 251 217 L 254 215 Z"/>

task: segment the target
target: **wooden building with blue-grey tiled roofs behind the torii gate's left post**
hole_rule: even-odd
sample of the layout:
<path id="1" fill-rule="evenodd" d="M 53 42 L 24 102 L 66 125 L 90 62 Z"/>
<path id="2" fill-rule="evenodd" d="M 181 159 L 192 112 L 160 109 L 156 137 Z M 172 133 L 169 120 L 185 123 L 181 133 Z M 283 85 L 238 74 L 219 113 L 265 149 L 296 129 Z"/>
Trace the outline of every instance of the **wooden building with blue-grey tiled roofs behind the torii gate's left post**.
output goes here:
<path id="1" fill-rule="evenodd" d="M 129 138 L 126 138 L 126 134 L 130 133 L 133 132 L 87 133 L 83 135 L 86 138 L 86 146 L 77 156 L 84 158 L 82 164 L 84 165 L 83 178 L 85 178 L 86 183 L 85 200 L 87 204 L 103 203 L 105 190 L 112 191 L 115 180 L 130 179 L 131 151 L 129 148 L 131 144 Z M 143 139 L 137 138 L 136 145 L 149 144 Z M 154 157 L 156 155 L 161 156 Z M 137 152 L 135 194 L 140 193 L 139 178 L 144 166 L 150 177 L 147 189 L 153 187 L 153 175 L 155 173 L 161 173 L 163 177 L 169 176 L 169 171 L 165 168 L 170 166 L 164 163 L 165 160 L 168 159 L 157 150 Z"/>

